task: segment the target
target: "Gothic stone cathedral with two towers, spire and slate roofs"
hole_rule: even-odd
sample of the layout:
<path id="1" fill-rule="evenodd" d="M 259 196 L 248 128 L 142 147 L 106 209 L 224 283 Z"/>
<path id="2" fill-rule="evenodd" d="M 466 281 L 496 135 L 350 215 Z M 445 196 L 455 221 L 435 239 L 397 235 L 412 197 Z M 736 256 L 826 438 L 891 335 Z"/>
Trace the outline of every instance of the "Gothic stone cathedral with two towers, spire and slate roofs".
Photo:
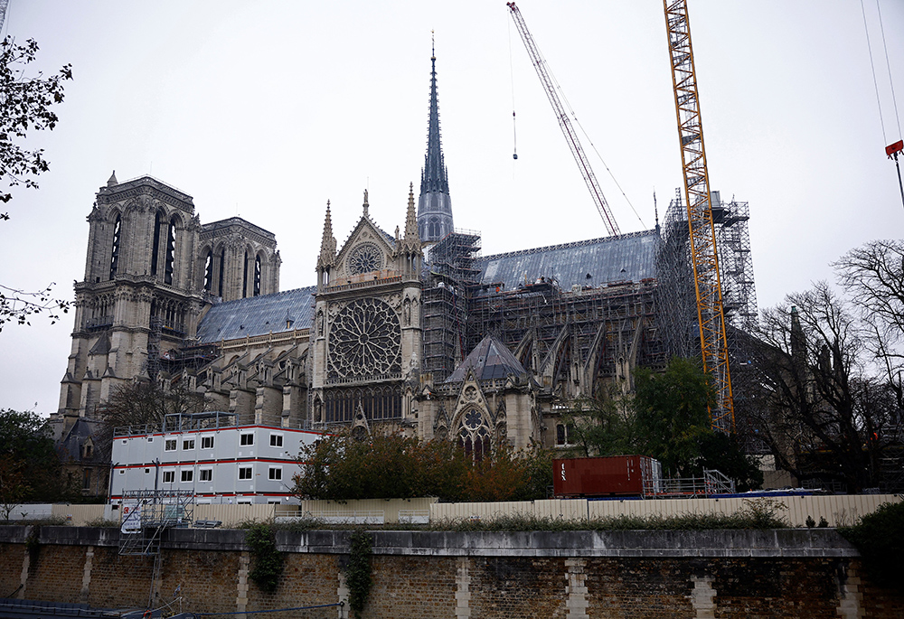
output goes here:
<path id="1" fill-rule="evenodd" d="M 566 445 L 574 399 L 664 365 L 657 230 L 481 256 L 454 228 L 432 62 L 417 202 L 412 186 L 389 233 L 364 192 L 343 247 L 327 203 L 315 286 L 280 292 L 271 232 L 201 223 L 191 196 L 112 175 L 88 216 L 58 417 L 94 417 L 145 380 L 240 424 L 382 428 L 479 454 Z"/>

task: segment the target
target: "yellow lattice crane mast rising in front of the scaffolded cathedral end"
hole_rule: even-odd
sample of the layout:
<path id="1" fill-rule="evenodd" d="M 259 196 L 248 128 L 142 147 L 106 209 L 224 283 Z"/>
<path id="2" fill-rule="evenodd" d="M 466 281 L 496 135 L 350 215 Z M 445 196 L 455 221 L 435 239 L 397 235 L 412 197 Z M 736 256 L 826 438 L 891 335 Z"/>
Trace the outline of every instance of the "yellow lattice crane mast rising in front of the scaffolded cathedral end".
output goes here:
<path id="1" fill-rule="evenodd" d="M 706 149 L 703 147 L 703 126 L 693 68 L 691 27 L 688 23 L 686 0 L 663 0 L 663 4 L 672 59 L 672 83 L 681 144 L 684 203 L 687 205 L 693 278 L 697 290 L 703 371 L 712 377 L 716 389 L 716 402 L 710 408 L 712 427 L 723 432 L 733 432 L 734 403 L 731 397 L 728 342 L 722 311 L 719 258 L 712 223 Z"/>

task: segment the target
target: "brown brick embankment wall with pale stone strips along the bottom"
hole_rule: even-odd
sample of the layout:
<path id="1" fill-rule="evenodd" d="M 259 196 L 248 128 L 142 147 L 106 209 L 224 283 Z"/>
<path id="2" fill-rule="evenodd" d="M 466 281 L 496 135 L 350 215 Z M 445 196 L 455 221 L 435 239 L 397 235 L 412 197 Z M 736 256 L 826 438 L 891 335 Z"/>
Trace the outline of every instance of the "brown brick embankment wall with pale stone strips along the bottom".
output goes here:
<path id="1" fill-rule="evenodd" d="M 0 595 L 144 608 L 182 597 L 195 613 L 236 613 L 347 598 L 347 531 L 278 533 L 278 588 L 250 581 L 237 530 L 171 530 L 152 558 L 118 555 L 118 531 L 0 527 Z M 856 550 L 833 530 L 572 533 L 374 533 L 365 617 L 904 616 L 904 596 L 872 586 Z M 178 591 L 178 594 L 176 592 Z M 179 605 L 170 607 L 179 610 Z M 308 611 L 334 618 L 336 607 Z"/>

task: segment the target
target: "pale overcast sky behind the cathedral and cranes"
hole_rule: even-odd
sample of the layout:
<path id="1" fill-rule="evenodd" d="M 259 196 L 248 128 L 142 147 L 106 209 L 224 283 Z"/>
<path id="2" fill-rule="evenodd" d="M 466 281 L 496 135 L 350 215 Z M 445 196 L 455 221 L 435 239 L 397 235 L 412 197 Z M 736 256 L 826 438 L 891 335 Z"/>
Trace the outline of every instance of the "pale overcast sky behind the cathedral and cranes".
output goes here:
<path id="1" fill-rule="evenodd" d="M 750 204 L 760 307 L 831 279 L 833 260 L 900 238 L 900 138 L 876 0 L 691 0 L 711 188 Z M 654 225 L 680 186 L 661 2 L 518 3 L 579 122 L 623 232 Z M 880 0 L 904 108 L 904 3 Z M 36 134 L 51 170 L 14 191 L 0 282 L 71 297 L 95 193 L 152 174 L 202 222 L 236 214 L 276 233 L 281 289 L 315 283 L 325 204 L 340 244 L 363 190 L 404 228 L 427 141 L 430 37 L 455 223 L 485 255 L 606 236 L 503 0 L 78 2 L 11 0 L 3 34 L 71 62 L 60 123 Z M 513 160 L 513 108 L 517 161 Z M 588 152 L 592 151 L 585 142 Z M 638 218 L 639 215 L 639 218 Z M 58 406 L 72 316 L 0 332 L 0 408 Z"/>

